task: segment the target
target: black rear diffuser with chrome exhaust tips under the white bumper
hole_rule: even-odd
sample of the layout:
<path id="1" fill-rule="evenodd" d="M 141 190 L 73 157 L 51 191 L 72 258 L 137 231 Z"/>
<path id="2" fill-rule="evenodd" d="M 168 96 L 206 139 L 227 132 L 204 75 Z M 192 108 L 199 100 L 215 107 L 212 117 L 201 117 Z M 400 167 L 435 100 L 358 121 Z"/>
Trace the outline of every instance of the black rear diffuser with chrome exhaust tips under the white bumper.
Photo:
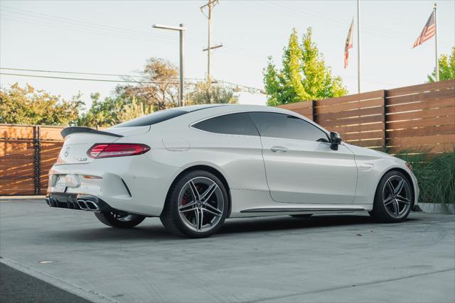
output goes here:
<path id="1" fill-rule="evenodd" d="M 45 197 L 50 207 L 60 209 L 74 209 L 80 211 L 109 211 L 112 207 L 102 199 L 87 194 L 68 194 L 51 192 Z"/>

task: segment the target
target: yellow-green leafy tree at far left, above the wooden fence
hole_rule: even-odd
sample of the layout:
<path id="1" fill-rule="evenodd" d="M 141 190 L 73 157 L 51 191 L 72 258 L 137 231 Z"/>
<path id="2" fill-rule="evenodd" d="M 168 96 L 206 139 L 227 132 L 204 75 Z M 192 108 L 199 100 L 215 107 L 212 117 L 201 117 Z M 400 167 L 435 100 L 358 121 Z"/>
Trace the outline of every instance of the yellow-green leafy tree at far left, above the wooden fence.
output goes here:
<path id="1" fill-rule="evenodd" d="M 0 89 L 0 123 L 74 125 L 84 103 L 78 93 L 69 101 L 27 84 Z"/>

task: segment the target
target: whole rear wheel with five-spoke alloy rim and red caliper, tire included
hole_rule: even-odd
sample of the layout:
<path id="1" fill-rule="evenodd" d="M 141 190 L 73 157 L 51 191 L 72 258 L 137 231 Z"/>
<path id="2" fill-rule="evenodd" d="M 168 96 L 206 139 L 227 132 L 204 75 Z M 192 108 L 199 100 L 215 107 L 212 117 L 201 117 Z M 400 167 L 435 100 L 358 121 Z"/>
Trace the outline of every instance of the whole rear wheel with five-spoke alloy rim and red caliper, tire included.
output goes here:
<path id="1" fill-rule="evenodd" d="M 223 183 L 212 173 L 197 170 L 174 182 L 160 219 L 172 233 L 203 238 L 218 231 L 227 214 Z"/>

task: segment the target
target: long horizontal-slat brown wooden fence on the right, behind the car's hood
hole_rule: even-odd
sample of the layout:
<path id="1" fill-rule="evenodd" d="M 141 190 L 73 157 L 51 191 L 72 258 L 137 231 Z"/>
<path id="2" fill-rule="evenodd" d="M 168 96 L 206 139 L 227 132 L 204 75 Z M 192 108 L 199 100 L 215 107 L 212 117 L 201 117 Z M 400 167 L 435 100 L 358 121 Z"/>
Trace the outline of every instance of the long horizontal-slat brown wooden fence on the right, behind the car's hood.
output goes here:
<path id="1" fill-rule="evenodd" d="M 454 79 L 280 107 L 341 133 L 343 141 L 389 153 L 442 153 L 455 145 Z"/>

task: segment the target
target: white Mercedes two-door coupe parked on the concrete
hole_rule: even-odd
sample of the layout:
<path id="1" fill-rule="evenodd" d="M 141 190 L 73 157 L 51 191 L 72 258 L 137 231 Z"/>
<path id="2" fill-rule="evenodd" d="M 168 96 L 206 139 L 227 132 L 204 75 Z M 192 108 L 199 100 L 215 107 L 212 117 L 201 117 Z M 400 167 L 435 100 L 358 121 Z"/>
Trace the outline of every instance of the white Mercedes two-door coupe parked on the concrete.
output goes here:
<path id="1" fill-rule="evenodd" d="M 47 204 L 108 226 L 159 216 L 168 231 L 201 238 L 250 216 L 366 211 L 399 222 L 419 197 L 407 162 L 276 107 L 185 106 L 62 136 Z"/>

